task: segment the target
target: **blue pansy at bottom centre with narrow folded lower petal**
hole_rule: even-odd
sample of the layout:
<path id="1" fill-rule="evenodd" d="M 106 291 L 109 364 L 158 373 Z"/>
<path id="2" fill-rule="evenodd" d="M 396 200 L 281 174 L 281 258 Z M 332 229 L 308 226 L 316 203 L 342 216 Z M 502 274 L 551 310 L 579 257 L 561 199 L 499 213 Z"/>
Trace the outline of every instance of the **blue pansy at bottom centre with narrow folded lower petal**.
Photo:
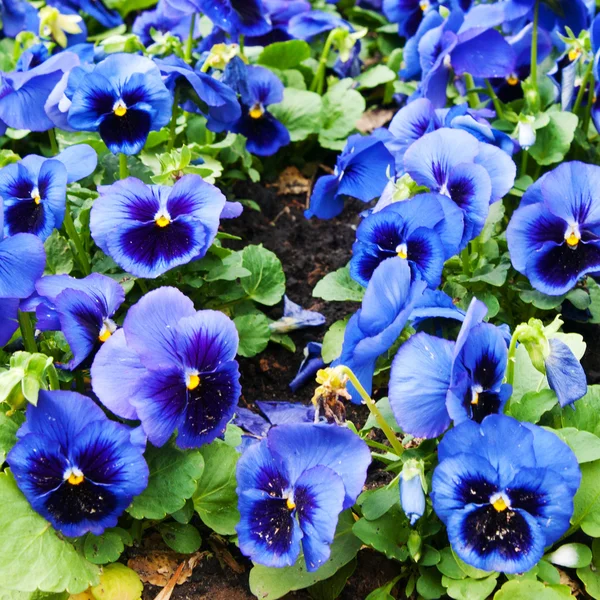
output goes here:
<path id="1" fill-rule="evenodd" d="M 307 571 L 316 571 L 329 559 L 338 515 L 356 501 L 370 462 L 367 445 L 349 429 L 271 429 L 237 465 L 242 553 L 284 567 L 296 562 L 302 545 Z"/>

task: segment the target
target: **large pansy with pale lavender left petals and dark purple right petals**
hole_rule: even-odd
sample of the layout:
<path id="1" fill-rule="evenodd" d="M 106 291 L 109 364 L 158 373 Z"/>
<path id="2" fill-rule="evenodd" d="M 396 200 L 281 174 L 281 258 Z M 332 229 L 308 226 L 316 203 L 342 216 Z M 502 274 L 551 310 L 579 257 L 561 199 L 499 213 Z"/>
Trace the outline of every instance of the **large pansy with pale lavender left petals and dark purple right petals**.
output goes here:
<path id="1" fill-rule="evenodd" d="M 100 401 L 124 419 L 139 419 L 155 446 L 177 430 L 180 448 L 222 435 L 241 393 L 233 321 L 196 312 L 179 290 L 162 287 L 129 309 L 123 328 L 103 344 L 92 365 Z"/>

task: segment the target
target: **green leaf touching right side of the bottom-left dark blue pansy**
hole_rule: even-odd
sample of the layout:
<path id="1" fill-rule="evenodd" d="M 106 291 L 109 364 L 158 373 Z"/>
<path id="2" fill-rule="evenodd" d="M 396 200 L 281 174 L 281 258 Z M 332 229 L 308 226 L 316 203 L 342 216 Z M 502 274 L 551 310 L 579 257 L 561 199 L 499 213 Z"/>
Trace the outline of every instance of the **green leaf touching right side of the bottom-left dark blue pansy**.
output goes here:
<path id="1" fill-rule="evenodd" d="M 146 461 L 150 469 L 148 487 L 128 508 L 134 519 L 164 519 L 185 505 L 196 491 L 204 460 L 198 450 L 174 446 L 149 446 Z"/>

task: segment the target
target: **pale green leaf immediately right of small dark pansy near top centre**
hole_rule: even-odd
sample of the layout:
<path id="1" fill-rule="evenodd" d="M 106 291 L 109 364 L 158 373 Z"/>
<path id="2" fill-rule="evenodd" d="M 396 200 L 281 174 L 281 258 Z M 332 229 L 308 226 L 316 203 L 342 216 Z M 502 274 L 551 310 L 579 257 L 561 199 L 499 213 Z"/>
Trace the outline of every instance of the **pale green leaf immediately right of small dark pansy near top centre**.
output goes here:
<path id="1" fill-rule="evenodd" d="M 283 100 L 269 106 L 269 112 L 286 126 L 292 142 L 299 142 L 319 133 L 322 107 L 319 94 L 288 87 L 283 92 Z"/>

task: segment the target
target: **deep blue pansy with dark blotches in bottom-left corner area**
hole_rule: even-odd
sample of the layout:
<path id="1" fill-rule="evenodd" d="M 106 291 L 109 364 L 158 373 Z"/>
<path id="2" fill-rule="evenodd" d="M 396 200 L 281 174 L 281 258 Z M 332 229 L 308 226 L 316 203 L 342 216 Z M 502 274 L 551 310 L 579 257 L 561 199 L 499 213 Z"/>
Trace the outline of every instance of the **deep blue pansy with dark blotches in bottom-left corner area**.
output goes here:
<path id="1" fill-rule="evenodd" d="M 33 509 L 66 537 L 114 527 L 148 484 L 132 431 L 75 392 L 40 390 L 26 416 L 7 461 Z"/>

